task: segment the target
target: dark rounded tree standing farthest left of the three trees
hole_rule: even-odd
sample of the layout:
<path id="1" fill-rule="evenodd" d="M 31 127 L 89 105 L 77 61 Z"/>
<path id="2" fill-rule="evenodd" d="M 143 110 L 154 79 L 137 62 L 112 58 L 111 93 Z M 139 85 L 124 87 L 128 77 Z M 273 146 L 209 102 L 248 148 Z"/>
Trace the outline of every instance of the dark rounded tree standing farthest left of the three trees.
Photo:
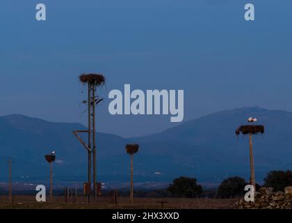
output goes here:
<path id="1" fill-rule="evenodd" d="M 203 192 L 202 186 L 197 185 L 197 179 L 181 176 L 172 181 L 168 192 L 175 197 L 200 197 Z"/>

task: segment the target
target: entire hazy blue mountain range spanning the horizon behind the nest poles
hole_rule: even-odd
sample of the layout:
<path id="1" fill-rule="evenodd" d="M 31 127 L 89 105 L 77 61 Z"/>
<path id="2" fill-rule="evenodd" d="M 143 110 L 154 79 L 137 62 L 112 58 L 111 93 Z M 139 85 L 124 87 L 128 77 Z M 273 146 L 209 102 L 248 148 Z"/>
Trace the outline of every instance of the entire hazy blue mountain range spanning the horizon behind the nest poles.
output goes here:
<path id="1" fill-rule="evenodd" d="M 97 178 L 102 182 L 129 180 L 129 155 L 124 145 L 134 142 L 140 144 L 134 156 L 136 182 L 170 182 L 182 175 L 205 183 L 218 183 L 234 175 L 248 179 L 248 137 L 236 137 L 235 130 L 250 116 L 266 128 L 263 136 L 253 138 L 256 179 L 262 181 L 271 169 L 292 169 L 292 113 L 243 107 L 145 137 L 124 139 L 98 133 Z M 72 134 L 72 130 L 82 129 L 86 127 L 79 123 L 51 123 L 22 115 L 0 117 L 0 180 L 6 180 L 8 157 L 13 158 L 15 180 L 36 183 L 47 178 L 44 155 L 53 150 L 57 157 L 54 178 L 86 180 L 87 153 Z"/>

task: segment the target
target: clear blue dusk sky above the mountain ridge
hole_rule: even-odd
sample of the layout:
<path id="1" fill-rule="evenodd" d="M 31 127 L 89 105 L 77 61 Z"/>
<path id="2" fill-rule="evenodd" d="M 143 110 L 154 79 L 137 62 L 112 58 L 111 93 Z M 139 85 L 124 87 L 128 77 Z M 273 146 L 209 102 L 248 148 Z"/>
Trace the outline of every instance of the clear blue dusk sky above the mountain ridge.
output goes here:
<path id="1" fill-rule="evenodd" d="M 45 3 L 47 21 L 35 20 Z M 256 21 L 243 18 L 254 3 Z M 79 122 L 78 76 L 102 72 L 111 89 L 183 89 L 184 121 L 259 105 L 292 112 L 292 1 L 107 0 L 0 2 L 0 115 Z M 98 130 L 159 132 L 169 116 L 111 116 Z"/>

